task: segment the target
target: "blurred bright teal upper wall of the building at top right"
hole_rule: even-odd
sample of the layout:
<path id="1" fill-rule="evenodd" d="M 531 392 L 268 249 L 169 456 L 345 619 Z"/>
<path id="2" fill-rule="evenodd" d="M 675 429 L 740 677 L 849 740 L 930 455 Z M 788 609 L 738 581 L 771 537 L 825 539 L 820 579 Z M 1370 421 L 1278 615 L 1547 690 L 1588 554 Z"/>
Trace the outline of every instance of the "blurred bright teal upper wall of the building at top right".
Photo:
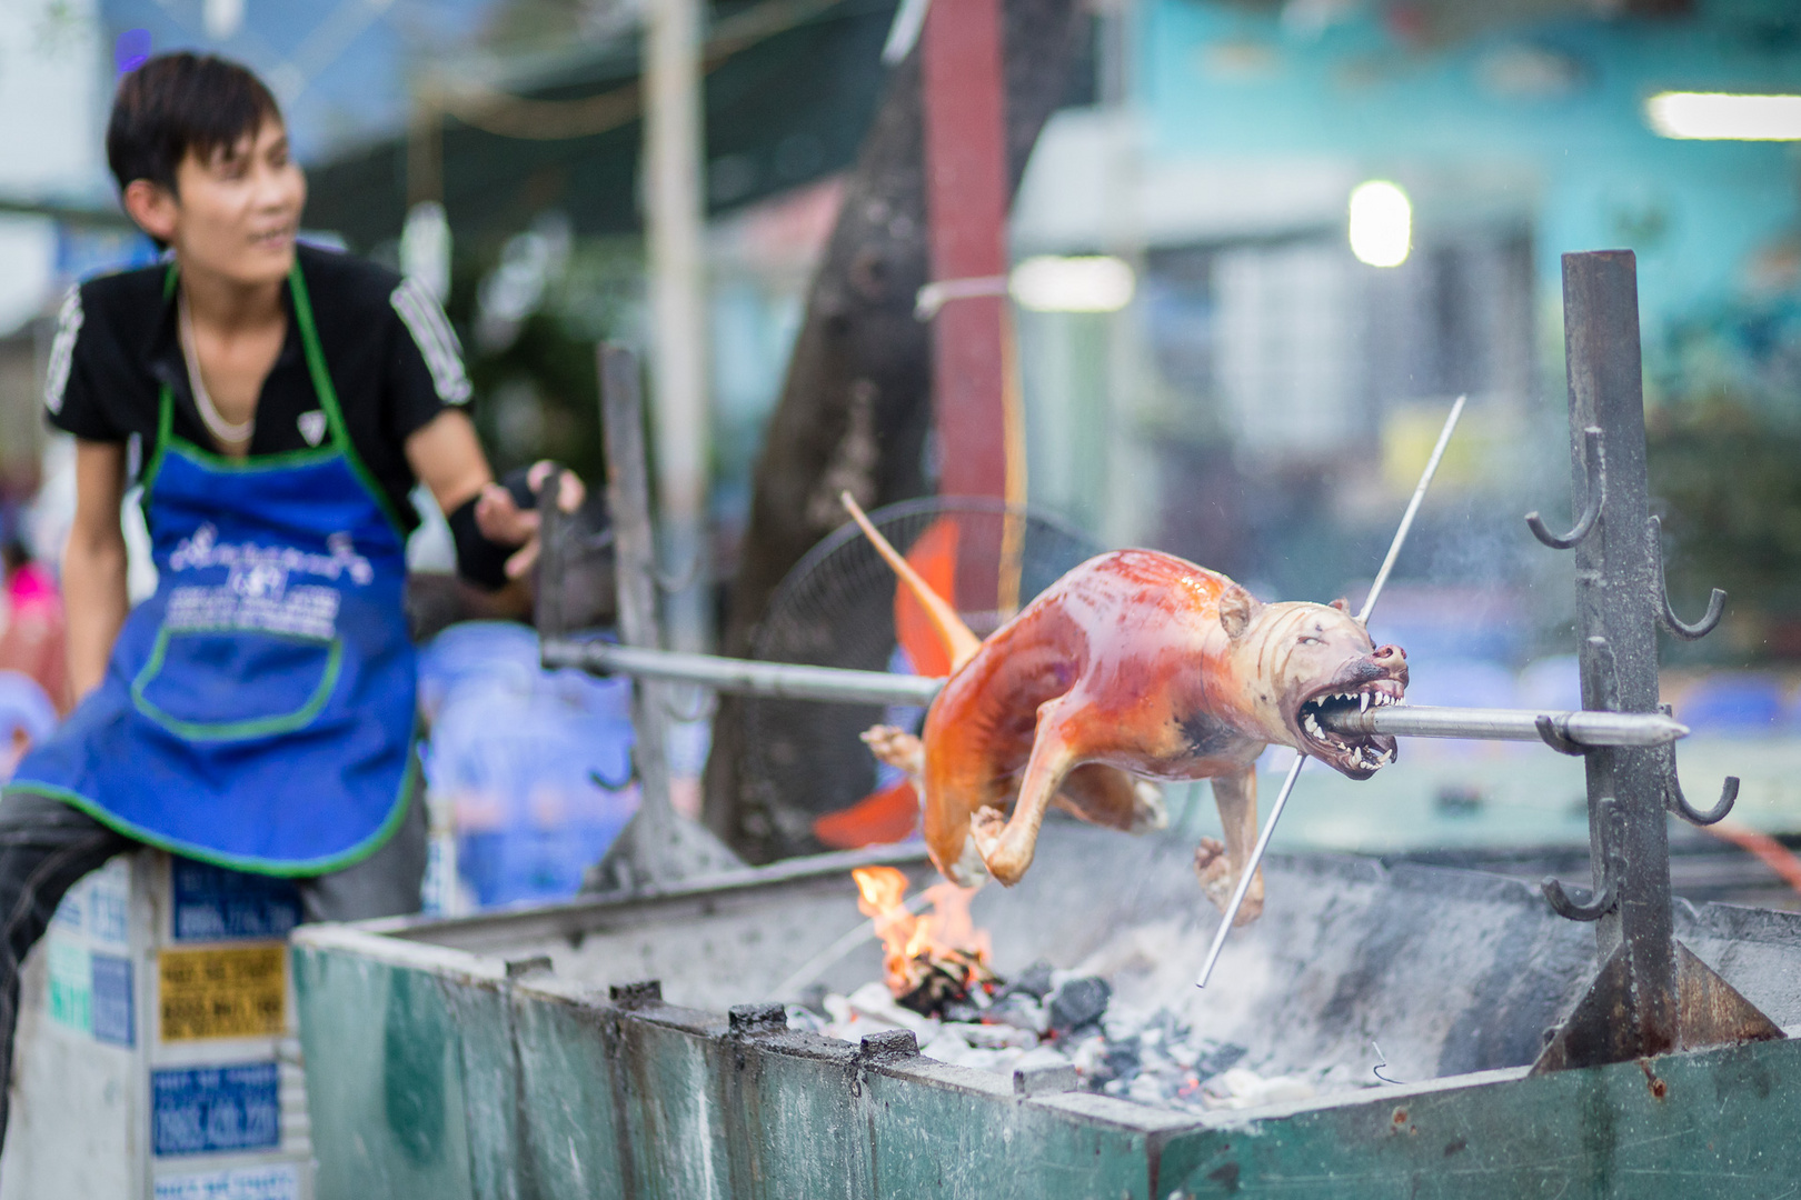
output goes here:
<path id="1" fill-rule="evenodd" d="M 1561 252 L 1637 250 L 1648 344 L 1670 320 L 1756 299 L 1760 252 L 1801 236 L 1797 144 L 1670 140 L 1643 119 L 1664 90 L 1801 90 L 1794 4 L 1704 0 L 1682 20 L 1525 23 L 1441 49 L 1408 45 L 1378 5 L 1317 32 L 1217 2 L 1140 13 L 1135 99 L 1153 158 L 1502 180 L 1488 200 L 1531 218 L 1551 304 Z M 1417 219 L 1457 223 L 1466 198 L 1434 210 L 1419 194 Z"/>

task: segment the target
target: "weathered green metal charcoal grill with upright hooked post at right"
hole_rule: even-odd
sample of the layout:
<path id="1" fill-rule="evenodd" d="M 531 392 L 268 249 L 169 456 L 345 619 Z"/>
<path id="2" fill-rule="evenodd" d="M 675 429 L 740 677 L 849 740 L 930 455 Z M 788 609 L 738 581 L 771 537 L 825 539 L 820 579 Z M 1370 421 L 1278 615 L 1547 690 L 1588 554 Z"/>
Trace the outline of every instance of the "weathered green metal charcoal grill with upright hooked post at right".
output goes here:
<path id="1" fill-rule="evenodd" d="M 848 871 L 924 880 L 906 847 L 616 873 L 632 887 L 566 905 L 295 934 L 319 1195 L 1794 1195 L 1801 918 L 1673 900 L 1666 813 L 1718 820 L 1734 781 L 1700 811 L 1668 738 L 1581 736 L 1655 723 L 1657 624 L 1698 637 L 1724 601 L 1691 626 L 1662 596 L 1634 270 L 1628 252 L 1565 255 L 1581 504 L 1567 534 L 1531 522 L 1576 551 L 1583 707 L 1603 716 L 1540 714 L 1531 732 L 1585 757 L 1592 889 L 1277 856 L 1263 918 L 1205 993 L 1189 981 L 1217 918 L 1187 838 L 1048 824 L 1025 880 L 974 901 L 1003 975 L 1100 972 L 1115 1004 L 1174 1004 L 1263 1070 L 1342 1067 L 1365 1087 L 1165 1112 L 1070 1090 L 1068 1072 L 935 1063 L 906 1031 L 789 1029 L 783 981 L 861 921 Z M 546 640 L 548 662 L 701 669 L 611 653 Z M 738 682 L 798 685 L 765 667 Z M 881 685 L 848 675 L 827 684 Z M 818 973 L 877 979 L 877 946 Z"/>

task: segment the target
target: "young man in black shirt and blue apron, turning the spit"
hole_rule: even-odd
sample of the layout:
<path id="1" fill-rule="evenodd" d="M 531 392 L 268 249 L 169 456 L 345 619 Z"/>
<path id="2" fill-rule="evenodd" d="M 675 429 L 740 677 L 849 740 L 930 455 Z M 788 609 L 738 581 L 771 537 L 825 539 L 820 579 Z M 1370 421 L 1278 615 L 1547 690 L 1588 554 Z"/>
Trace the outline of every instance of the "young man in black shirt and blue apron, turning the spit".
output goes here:
<path id="1" fill-rule="evenodd" d="M 488 471 L 432 297 L 295 243 L 306 182 L 250 72 L 149 59 L 119 85 L 106 155 L 169 255 L 72 291 L 50 349 L 49 417 L 77 439 L 63 590 L 79 703 L 0 802 L 0 1085 L 18 964 L 112 855 L 292 876 L 308 919 L 418 910 L 407 493 L 425 482 L 483 587 L 535 552 L 537 515 Z M 128 610 L 131 479 L 158 583 Z"/>

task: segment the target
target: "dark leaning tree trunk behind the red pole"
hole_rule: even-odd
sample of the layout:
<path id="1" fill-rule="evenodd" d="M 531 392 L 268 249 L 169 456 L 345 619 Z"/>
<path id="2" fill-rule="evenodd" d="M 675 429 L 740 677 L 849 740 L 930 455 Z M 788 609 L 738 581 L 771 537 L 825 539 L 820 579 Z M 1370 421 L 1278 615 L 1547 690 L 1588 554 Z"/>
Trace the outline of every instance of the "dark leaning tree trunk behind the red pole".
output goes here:
<path id="1" fill-rule="evenodd" d="M 940 0 L 942 2 L 942 0 Z M 1007 175 L 1018 191 L 1045 121 L 1068 92 L 1088 16 L 1075 0 L 1005 0 Z M 920 162 L 919 47 L 888 92 L 845 185 L 843 207 L 807 297 L 782 401 L 751 493 L 722 651 L 746 655 L 776 587 L 845 522 L 837 493 L 866 507 L 929 489 L 931 327 L 913 318 L 928 275 Z M 767 862 L 767 813 L 740 788 L 742 702 L 720 696 L 706 765 L 706 824 L 751 862 Z"/>

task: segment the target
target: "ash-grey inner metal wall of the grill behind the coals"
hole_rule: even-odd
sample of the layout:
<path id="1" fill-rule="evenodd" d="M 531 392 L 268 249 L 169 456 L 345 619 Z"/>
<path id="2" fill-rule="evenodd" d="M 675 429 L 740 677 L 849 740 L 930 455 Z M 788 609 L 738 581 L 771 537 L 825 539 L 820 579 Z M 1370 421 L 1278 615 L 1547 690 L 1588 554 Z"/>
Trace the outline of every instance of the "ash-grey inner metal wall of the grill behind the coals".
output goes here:
<path id="1" fill-rule="evenodd" d="M 1046 826 L 1014 889 L 973 905 L 1001 975 L 1036 959 L 1106 975 L 1115 1006 L 1172 1007 L 1263 1072 L 1376 1061 L 1399 1079 L 1520 1067 L 1594 972 L 1588 930 L 1534 887 L 1444 867 L 1273 856 L 1263 918 L 1192 984 L 1217 914 L 1176 837 Z M 935 873 L 913 864 L 929 883 Z M 407 936 L 504 959 L 548 954 L 587 986 L 659 979 L 674 1004 L 724 1011 L 769 999 L 863 918 L 848 869 L 711 892 L 571 905 L 414 927 Z M 1801 1024 L 1801 916 L 1677 901 L 1677 934 L 1778 1024 Z M 873 941 L 819 975 L 848 993 L 881 977 Z M 782 997 L 798 999 L 798 997 Z"/>

